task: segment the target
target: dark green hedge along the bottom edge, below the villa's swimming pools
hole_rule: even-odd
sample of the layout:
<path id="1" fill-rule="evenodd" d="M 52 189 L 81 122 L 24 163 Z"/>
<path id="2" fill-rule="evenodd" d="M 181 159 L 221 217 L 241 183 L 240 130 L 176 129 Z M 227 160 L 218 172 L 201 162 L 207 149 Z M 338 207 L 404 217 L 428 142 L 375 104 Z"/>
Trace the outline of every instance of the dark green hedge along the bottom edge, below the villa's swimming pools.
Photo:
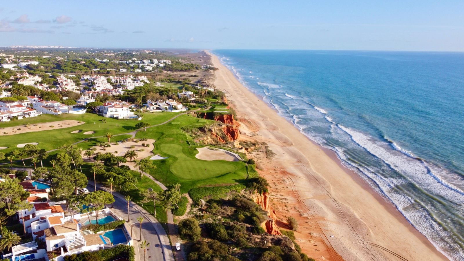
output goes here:
<path id="1" fill-rule="evenodd" d="M 64 261 L 112 261 L 123 257 L 127 257 L 129 261 L 134 261 L 134 247 L 128 245 L 117 245 L 114 248 L 101 249 L 94 252 L 71 254 L 65 256 Z"/>

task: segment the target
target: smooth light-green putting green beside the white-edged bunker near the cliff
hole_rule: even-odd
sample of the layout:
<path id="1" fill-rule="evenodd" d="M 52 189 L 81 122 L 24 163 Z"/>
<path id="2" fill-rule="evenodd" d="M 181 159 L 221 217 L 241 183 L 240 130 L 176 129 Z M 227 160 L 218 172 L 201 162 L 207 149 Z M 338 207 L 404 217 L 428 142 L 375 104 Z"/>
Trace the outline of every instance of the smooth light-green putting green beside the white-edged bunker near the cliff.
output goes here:
<path id="1" fill-rule="evenodd" d="M 161 151 L 177 160 L 171 164 L 171 172 L 180 178 L 198 180 L 212 178 L 238 169 L 237 164 L 226 161 L 205 161 L 187 157 L 178 144 L 161 144 Z"/>

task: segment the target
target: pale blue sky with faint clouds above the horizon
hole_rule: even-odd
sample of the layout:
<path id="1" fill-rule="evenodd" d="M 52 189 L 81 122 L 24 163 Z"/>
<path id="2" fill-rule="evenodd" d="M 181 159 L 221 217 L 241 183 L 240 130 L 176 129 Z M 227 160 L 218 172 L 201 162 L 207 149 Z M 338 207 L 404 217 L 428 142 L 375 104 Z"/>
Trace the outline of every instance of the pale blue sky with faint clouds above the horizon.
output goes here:
<path id="1" fill-rule="evenodd" d="M 464 1 L 5 1 L 18 45 L 461 52 Z"/>

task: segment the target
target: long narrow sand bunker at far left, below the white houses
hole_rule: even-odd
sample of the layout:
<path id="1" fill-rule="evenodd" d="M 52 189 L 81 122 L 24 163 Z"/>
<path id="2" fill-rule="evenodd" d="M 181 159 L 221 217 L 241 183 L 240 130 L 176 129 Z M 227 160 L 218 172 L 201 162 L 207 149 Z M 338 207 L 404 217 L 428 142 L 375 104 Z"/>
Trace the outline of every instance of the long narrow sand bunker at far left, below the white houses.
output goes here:
<path id="1" fill-rule="evenodd" d="M 81 124 L 84 124 L 84 122 L 83 121 L 78 122 L 74 120 L 52 121 L 52 122 L 31 124 L 29 128 L 26 127 L 26 124 L 14 126 L 14 127 L 1 128 L 1 124 L 0 124 L 0 136 L 14 135 L 14 134 L 20 134 L 20 133 L 32 132 L 32 131 L 48 131 L 48 130 L 64 129 L 64 128 L 69 128 L 69 127 L 73 127 L 73 126 L 77 126 Z M 50 127 L 50 126 L 53 126 L 53 127 Z M 21 129 L 21 130 L 18 130 L 18 129 Z M 4 132 L 6 132 L 6 134 Z"/>

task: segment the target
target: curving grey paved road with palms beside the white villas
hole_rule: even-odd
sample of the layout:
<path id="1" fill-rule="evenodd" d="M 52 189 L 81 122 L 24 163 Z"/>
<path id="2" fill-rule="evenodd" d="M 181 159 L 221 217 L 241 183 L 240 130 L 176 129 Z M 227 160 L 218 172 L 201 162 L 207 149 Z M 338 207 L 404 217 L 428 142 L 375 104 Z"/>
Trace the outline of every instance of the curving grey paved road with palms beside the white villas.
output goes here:
<path id="1" fill-rule="evenodd" d="M 93 191 L 94 183 L 89 181 L 87 185 L 89 191 Z M 109 188 L 103 187 L 97 183 L 97 189 L 105 190 L 110 192 Z M 113 212 L 116 213 L 119 217 L 127 221 L 127 201 L 124 199 L 124 196 L 113 191 L 113 196 L 115 202 L 113 203 Z M 145 209 L 142 209 L 139 205 L 134 202 L 129 202 L 129 218 L 130 222 L 126 222 L 126 228 L 131 233 L 130 223 L 134 224 L 132 228 L 135 247 L 135 255 L 138 257 L 138 260 L 143 260 L 143 250 L 140 248 L 140 224 L 137 222 L 137 217 L 142 216 L 142 240 L 146 240 L 150 243 L 150 246 L 147 248 L 147 257 L 146 260 L 156 260 L 156 261 L 174 261 L 174 254 L 169 242 L 168 235 L 166 231 L 161 226 L 161 223 L 158 222 L 155 217 L 149 214 Z"/>

